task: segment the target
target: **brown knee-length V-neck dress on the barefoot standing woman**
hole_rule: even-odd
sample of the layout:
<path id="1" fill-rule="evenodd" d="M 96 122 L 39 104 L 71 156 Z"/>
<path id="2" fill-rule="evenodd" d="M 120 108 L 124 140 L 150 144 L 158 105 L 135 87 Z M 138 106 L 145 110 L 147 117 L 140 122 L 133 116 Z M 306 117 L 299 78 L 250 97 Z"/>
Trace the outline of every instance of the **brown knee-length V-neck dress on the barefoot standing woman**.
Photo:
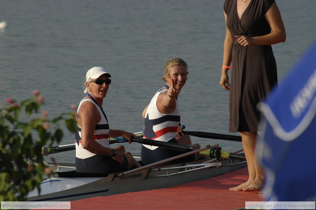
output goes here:
<path id="1" fill-rule="evenodd" d="M 273 0 L 251 0 L 239 20 L 237 0 L 226 0 L 227 27 L 233 34 L 249 37 L 271 33 L 264 15 Z M 234 40 L 229 93 L 229 132 L 257 132 L 262 101 L 277 83 L 276 62 L 271 45 L 241 46 Z"/>

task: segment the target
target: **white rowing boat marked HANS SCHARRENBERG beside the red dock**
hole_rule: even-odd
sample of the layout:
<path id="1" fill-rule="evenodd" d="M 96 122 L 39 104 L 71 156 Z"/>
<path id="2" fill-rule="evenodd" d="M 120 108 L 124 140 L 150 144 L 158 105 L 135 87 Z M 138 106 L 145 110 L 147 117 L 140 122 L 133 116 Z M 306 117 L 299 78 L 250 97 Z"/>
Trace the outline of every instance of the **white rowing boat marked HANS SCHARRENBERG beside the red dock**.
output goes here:
<path id="1" fill-rule="evenodd" d="M 219 176 L 246 167 L 245 160 L 220 157 L 157 166 L 210 148 L 207 146 L 122 173 L 91 174 L 78 173 L 75 170 L 56 172 L 53 177 L 41 182 L 40 194 L 37 189 L 31 191 L 27 195 L 27 201 L 75 201 L 95 196 L 166 188 Z"/>

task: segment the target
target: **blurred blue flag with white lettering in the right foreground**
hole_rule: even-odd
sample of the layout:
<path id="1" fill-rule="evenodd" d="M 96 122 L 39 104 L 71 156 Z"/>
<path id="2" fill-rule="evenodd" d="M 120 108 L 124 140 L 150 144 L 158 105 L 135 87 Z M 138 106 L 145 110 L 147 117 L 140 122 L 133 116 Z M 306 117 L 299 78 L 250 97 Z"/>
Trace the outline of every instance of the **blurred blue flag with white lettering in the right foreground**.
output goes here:
<path id="1" fill-rule="evenodd" d="M 315 201 L 316 42 L 258 108 L 266 201 Z"/>

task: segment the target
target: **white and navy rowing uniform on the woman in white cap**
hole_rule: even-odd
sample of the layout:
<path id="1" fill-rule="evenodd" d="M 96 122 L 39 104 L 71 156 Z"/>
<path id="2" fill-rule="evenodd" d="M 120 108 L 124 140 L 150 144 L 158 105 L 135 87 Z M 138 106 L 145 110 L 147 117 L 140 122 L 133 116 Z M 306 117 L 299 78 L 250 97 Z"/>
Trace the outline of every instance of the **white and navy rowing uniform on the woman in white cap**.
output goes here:
<path id="1" fill-rule="evenodd" d="M 109 124 L 106 119 L 106 115 L 103 114 L 100 107 L 91 99 L 84 98 L 79 104 L 78 110 L 83 102 L 88 101 L 93 103 L 101 116 L 101 120 L 97 123 L 94 130 L 93 139 L 104 147 L 111 148 L 109 143 Z M 128 170 L 128 161 L 123 155 L 125 161 L 121 165 L 110 156 L 98 155 L 89 152 L 82 148 L 81 145 L 81 127 L 77 124 L 78 130 L 75 133 L 75 145 L 76 145 L 76 171 L 77 172 L 89 172 L 89 173 L 115 173 Z"/>

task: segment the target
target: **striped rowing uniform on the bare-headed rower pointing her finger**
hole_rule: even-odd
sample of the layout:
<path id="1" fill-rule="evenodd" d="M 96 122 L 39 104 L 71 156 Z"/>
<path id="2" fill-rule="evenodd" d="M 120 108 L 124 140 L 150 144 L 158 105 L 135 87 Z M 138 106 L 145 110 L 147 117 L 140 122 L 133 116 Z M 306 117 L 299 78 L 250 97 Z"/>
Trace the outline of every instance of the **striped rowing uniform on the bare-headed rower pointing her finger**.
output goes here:
<path id="1" fill-rule="evenodd" d="M 178 143 L 175 139 L 177 136 L 177 129 L 180 125 L 180 111 L 178 102 L 176 108 L 170 114 L 163 114 L 157 108 L 157 99 L 158 96 L 167 92 L 168 89 L 162 88 L 157 91 L 155 96 L 151 99 L 149 106 L 146 111 L 145 123 L 144 123 L 144 139 L 153 139 L 164 142 Z M 151 145 L 142 145 L 141 157 L 143 165 L 148 165 L 161 161 L 167 158 L 171 158 L 180 154 L 185 153 L 184 151 L 168 149 L 163 147 L 151 146 Z M 193 157 L 193 158 L 192 158 Z M 186 161 L 193 161 L 193 156 L 186 156 L 174 161 L 167 162 L 179 163 Z"/>

